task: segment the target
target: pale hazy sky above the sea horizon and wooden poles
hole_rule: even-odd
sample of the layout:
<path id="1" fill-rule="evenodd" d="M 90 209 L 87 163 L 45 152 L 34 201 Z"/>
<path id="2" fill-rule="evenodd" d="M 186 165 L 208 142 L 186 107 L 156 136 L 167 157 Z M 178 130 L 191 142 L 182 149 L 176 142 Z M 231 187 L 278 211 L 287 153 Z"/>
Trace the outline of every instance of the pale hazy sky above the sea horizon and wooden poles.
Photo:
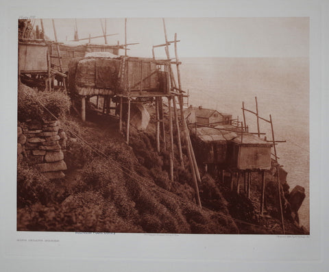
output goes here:
<path id="1" fill-rule="evenodd" d="M 166 18 L 169 40 L 178 34 L 181 57 L 308 57 L 309 19 L 295 18 Z M 124 18 L 108 18 L 109 44 L 124 43 Z M 40 27 L 40 20 L 36 19 Z M 50 19 L 45 32 L 53 38 Z M 59 40 L 73 40 L 74 19 L 55 19 Z M 77 18 L 79 38 L 102 35 L 99 18 Z M 103 38 L 93 42 L 104 42 Z M 164 43 L 161 18 L 127 18 L 128 55 L 151 57 L 152 45 Z M 121 52 L 122 53 L 122 52 Z M 156 55 L 164 55 L 163 47 Z M 171 49 L 173 55 L 173 47 Z"/>

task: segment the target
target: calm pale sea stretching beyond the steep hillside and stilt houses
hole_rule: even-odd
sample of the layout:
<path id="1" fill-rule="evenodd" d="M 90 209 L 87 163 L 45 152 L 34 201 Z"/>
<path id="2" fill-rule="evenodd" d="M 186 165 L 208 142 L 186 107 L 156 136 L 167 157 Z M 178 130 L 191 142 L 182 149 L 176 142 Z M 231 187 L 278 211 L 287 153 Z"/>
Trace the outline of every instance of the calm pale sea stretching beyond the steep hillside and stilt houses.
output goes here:
<path id="1" fill-rule="evenodd" d="M 309 208 L 309 59 L 308 58 L 182 58 L 182 89 L 188 104 L 216 109 L 243 121 L 245 108 L 273 121 L 279 163 L 288 172 L 287 183 L 305 188 L 298 212 L 300 225 L 310 230 Z M 187 100 L 185 99 L 185 102 Z M 249 132 L 257 132 L 256 116 L 246 113 Z M 269 123 L 260 132 L 271 139 Z"/>

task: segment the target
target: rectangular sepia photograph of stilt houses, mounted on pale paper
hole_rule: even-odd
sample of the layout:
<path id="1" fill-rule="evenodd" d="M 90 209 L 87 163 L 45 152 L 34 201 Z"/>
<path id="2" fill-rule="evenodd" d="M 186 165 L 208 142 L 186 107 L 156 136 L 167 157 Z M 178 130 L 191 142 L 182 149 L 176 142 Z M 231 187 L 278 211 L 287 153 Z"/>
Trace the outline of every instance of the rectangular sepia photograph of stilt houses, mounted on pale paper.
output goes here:
<path id="1" fill-rule="evenodd" d="M 17 231 L 310 234 L 308 17 L 17 34 Z"/>

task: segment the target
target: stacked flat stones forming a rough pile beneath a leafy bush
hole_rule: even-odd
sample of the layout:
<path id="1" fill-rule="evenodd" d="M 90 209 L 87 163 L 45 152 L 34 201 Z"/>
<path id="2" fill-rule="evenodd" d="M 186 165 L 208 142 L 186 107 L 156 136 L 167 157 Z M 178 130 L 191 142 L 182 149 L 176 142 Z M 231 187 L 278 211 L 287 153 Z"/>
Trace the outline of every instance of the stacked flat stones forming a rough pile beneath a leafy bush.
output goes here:
<path id="1" fill-rule="evenodd" d="M 66 149 L 66 134 L 59 121 L 30 121 L 27 127 L 18 127 L 17 153 L 19 159 L 27 156 L 42 175 L 50 180 L 64 177 L 66 170 L 63 150 Z M 23 155 L 22 155 L 23 153 Z"/>

